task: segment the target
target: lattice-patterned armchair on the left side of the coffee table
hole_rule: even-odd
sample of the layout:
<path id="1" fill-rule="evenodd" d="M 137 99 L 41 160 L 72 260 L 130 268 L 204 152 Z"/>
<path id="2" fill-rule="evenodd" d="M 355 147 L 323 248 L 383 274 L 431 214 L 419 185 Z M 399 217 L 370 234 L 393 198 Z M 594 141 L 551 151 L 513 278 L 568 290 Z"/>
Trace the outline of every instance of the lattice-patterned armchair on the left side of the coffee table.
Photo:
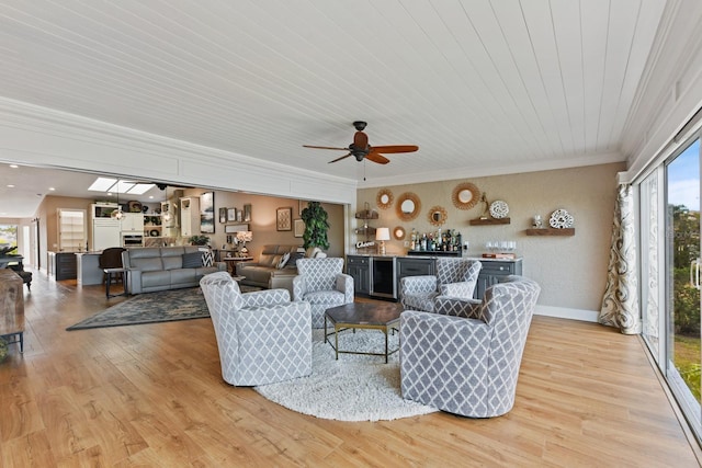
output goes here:
<path id="1" fill-rule="evenodd" d="M 200 286 L 226 383 L 254 386 L 312 374 L 308 304 L 291 303 L 287 289 L 241 294 L 227 272 L 205 275 Z"/>

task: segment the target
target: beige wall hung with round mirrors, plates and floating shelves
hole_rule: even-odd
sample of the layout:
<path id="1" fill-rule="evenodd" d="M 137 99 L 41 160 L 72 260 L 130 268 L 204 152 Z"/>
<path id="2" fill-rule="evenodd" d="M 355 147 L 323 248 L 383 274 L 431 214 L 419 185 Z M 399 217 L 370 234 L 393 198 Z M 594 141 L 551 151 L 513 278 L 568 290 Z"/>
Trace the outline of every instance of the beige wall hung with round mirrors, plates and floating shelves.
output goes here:
<path id="1" fill-rule="evenodd" d="M 367 202 L 380 213 L 380 219 L 370 221 L 373 227 L 403 226 L 407 231 L 406 240 L 412 228 L 420 232 L 435 231 L 428 213 L 434 205 L 442 206 L 449 214 L 442 228 L 457 229 L 463 240 L 469 241 L 471 254 L 482 254 L 488 240 L 517 241 L 518 255 L 524 258 L 523 274 L 542 286 L 541 306 L 599 310 L 605 286 L 616 173 L 623 170 L 624 163 L 613 163 L 387 187 L 395 201 L 404 192 L 419 196 L 421 213 L 412 221 L 399 220 L 395 203 L 388 209 L 380 209 L 375 201 L 380 189 L 360 190 L 358 206 L 362 208 Z M 453 206 L 453 189 L 461 182 L 477 185 L 489 202 L 507 202 L 511 224 L 471 226 L 468 221 L 477 218 L 483 207 L 479 203 L 469 210 Z M 557 208 L 564 208 L 575 217 L 574 237 L 525 235 L 534 215 L 540 214 L 547 225 L 551 213 Z M 356 225 L 362 226 L 362 221 Z M 403 254 L 407 250 L 401 241 L 390 240 L 386 246 L 388 254 Z"/>

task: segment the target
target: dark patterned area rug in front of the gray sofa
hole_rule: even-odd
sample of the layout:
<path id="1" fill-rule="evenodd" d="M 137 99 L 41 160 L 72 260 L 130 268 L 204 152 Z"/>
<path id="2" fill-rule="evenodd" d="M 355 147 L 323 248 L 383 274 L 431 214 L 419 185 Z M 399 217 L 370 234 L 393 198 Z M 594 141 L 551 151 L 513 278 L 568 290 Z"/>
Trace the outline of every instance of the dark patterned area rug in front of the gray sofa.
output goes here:
<path id="1" fill-rule="evenodd" d="M 251 286 L 240 287 L 242 293 L 260 289 Z M 205 297 L 199 287 L 191 287 L 133 296 L 66 330 L 171 322 L 205 317 L 210 317 Z"/>

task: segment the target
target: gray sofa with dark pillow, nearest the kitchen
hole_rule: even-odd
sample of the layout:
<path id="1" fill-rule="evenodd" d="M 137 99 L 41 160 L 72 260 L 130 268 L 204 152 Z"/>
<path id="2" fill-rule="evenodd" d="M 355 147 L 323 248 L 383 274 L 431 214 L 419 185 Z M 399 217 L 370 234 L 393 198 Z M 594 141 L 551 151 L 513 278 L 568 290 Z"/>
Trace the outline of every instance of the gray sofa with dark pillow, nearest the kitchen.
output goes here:
<path id="1" fill-rule="evenodd" d="M 196 246 L 135 247 L 122 252 L 127 272 L 129 294 L 195 287 L 208 273 L 227 271 L 227 264 L 215 262 L 203 266 L 204 252 Z"/>

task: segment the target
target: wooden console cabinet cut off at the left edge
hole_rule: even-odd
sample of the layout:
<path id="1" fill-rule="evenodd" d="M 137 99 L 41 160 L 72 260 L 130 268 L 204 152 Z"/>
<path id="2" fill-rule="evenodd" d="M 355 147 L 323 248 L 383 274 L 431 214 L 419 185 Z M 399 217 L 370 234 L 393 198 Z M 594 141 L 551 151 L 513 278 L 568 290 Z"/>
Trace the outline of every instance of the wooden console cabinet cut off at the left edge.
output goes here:
<path id="1" fill-rule="evenodd" d="M 0 270 L 0 338 L 19 343 L 24 352 L 24 290 L 22 277 L 14 271 Z"/>

